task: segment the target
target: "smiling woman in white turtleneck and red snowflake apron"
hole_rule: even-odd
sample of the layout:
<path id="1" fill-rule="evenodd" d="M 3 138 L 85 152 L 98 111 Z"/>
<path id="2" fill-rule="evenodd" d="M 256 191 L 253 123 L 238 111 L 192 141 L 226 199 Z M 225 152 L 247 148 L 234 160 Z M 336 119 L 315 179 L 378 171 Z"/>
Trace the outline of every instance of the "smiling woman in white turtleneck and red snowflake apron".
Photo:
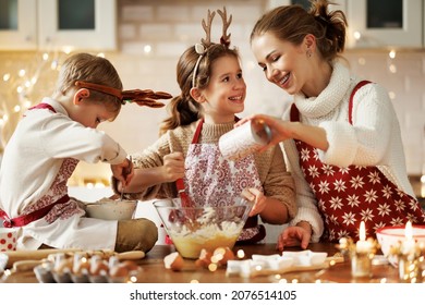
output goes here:
<path id="1" fill-rule="evenodd" d="M 405 171 L 399 122 L 388 93 L 351 75 L 338 57 L 345 16 L 328 1 L 279 7 L 260 17 L 251 45 L 266 78 L 294 96 L 283 120 L 253 115 L 283 142 L 299 213 L 278 247 L 367 236 L 384 225 L 424 223 Z M 245 120 L 240 123 L 244 123 Z"/>

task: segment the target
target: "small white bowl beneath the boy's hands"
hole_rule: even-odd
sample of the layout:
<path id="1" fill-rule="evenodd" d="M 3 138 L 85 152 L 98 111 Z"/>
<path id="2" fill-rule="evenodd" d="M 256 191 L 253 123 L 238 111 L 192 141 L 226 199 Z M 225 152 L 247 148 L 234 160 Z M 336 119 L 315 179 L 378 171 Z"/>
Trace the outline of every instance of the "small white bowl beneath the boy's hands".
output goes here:
<path id="1" fill-rule="evenodd" d="M 126 220 L 133 218 L 136 207 L 137 200 L 102 198 L 95 203 L 86 204 L 86 212 L 89 218 Z"/>

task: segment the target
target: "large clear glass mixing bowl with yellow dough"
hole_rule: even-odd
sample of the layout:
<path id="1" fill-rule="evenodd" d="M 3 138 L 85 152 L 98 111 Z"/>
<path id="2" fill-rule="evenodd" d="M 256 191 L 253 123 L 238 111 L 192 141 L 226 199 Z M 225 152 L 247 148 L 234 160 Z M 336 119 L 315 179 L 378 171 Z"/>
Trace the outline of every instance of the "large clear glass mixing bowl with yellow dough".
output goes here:
<path id="1" fill-rule="evenodd" d="M 192 259 L 197 259 L 203 249 L 233 248 L 253 207 L 242 197 L 226 198 L 219 206 L 182 207 L 179 198 L 153 204 L 175 249 Z"/>

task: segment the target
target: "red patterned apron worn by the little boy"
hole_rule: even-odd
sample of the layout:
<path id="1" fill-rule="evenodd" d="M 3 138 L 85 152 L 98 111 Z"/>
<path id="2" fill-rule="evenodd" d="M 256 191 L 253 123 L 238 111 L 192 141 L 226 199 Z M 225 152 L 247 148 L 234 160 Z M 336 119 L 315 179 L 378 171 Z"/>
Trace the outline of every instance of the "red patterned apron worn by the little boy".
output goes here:
<path id="1" fill-rule="evenodd" d="M 29 108 L 29 110 L 32 109 L 49 109 L 56 112 L 54 108 L 48 103 L 39 103 Z M 64 159 L 49 192 L 35 204 L 25 208 L 21 216 L 11 219 L 5 211 L 0 209 L 0 219 L 3 220 L 3 225 L 5 228 L 23 227 L 44 217 L 46 217 L 47 222 L 51 223 L 59 217 L 69 217 L 75 212 L 81 212 L 77 203 L 71 200 L 68 196 L 66 186 L 68 179 L 73 173 L 77 163 L 78 160 L 76 159 Z"/>

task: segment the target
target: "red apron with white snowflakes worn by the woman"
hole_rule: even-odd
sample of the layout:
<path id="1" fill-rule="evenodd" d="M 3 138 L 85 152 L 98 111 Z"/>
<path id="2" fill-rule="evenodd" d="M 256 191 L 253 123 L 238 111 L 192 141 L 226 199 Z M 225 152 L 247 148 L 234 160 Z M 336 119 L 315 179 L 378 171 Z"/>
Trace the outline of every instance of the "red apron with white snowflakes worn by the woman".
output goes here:
<path id="1" fill-rule="evenodd" d="M 350 97 L 349 122 L 355 91 L 367 84 L 356 85 Z M 293 103 L 291 121 L 300 121 Z M 323 163 L 316 148 L 295 141 L 300 166 L 318 202 L 325 221 L 323 241 L 339 242 L 343 236 L 359 240 L 363 220 L 366 235 L 375 237 L 376 230 L 386 225 L 404 225 L 408 220 L 424 224 L 425 215 L 418 202 L 399 190 L 377 167 L 350 166 L 339 168 Z"/>

